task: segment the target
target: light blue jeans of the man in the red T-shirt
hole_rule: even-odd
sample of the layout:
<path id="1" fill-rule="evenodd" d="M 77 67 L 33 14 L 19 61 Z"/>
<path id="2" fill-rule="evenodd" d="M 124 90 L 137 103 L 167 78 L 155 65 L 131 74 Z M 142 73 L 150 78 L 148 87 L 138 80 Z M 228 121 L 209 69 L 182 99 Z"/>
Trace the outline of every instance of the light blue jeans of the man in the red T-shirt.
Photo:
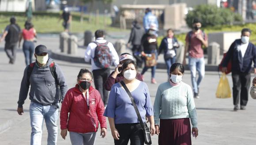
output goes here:
<path id="1" fill-rule="evenodd" d="M 188 65 L 191 72 L 191 81 L 194 93 L 198 93 L 199 85 L 204 77 L 204 58 L 188 57 Z M 198 71 L 198 80 L 196 81 L 196 71 Z"/>

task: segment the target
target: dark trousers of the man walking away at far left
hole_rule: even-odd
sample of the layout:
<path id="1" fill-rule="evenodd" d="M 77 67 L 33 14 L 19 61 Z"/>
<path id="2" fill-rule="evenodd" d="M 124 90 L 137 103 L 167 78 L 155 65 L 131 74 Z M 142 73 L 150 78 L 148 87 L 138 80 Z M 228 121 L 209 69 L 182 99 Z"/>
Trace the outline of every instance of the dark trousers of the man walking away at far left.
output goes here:
<path id="1" fill-rule="evenodd" d="M 16 58 L 17 43 L 5 43 L 4 51 L 6 52 L 9 63 L 14 63 Z"/>

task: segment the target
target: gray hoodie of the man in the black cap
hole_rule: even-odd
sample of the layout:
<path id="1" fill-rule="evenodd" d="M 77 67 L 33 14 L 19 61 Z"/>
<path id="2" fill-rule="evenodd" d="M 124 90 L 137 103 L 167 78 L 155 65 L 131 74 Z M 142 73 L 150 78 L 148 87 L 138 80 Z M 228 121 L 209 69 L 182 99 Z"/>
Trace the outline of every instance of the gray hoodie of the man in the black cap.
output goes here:
<path id="1" fill-rule="evenodd" d="M 60 66 L 55 63 L 57 81 L 60 87 L 57 86 L 57 83 L 55 82 L 49 67 L 52 62 L 53 60 L 49 58 L 47 64 L 44 67 L 39 67 L 36 62 L 34 69 L 31 72 L 29 82 L 27 81 L 27 70 L 29 66 L 26 67 L 20 85 L 18 107 L 23 106 L 27 97 L 29 86 L 31 86 L 29 99 L 35 103 L 42 105 L 58 105 L 58 102 L 60 101 L 60 93 L 62 97 L 61 100 L 64 99 L 64 96 L 68 91 L 68 86 L 65 83 L 64 75 L 60 69 Z"/>

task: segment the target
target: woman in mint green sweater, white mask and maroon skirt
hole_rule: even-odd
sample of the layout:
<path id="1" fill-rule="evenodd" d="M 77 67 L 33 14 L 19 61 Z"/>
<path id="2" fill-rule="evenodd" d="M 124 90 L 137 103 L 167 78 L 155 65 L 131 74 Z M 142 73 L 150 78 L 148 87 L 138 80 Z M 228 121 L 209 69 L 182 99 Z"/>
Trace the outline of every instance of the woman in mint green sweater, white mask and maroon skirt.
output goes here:
<path id="1" fill-rule="evenodd" d="M 170 80 L 158 86 L 154 101 L 158 145 L 191 145 L 190 132 L 195 137 L 198 135 L 193 92 L 188 84 L 181 81 L 184 74 L 181 63 L 174 63 L 169 72 Z"/>

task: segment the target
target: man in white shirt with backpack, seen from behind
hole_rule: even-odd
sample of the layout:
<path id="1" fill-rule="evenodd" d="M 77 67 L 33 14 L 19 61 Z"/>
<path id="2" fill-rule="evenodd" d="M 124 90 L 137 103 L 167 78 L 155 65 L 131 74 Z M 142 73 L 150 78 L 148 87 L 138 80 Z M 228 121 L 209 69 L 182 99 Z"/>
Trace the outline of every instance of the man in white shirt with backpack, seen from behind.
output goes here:
<path id="1" fill-rule="evenodd" d="M 108 91 L 105 90 L 104 84 L 110 74 L 110 66 L 114 63 L 119 64 L 119 57 L 113 44 L 104 39 L 103 30 L 95 31 L 95 41 L 89 43 L 84 59 L 86 62 L 91 61 L 92 73 L 95 88 L 100 92 L 102 101 L 106 106 L 108 104 Z"/>

